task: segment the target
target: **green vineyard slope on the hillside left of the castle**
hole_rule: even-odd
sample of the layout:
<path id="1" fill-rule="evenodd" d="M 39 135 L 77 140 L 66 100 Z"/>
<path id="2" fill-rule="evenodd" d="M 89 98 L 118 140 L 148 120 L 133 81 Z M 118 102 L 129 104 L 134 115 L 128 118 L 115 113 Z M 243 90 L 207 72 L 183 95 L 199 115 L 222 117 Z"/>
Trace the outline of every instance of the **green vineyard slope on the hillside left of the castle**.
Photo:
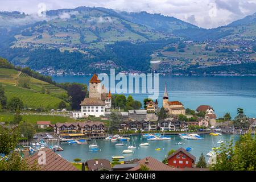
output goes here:
<path id="1" fill-rule="evenodd" d="M 22 87 L 24 82 L 28 83 L 29 89 Z M 0 68 L 0 83 L 5 88 L 8 100 L 12 97 L 19 97 L 24 105 L 32 108 L 56 108 L 61 101 L 58 97 L 61 94 L 67 94 L 63 89 L 13 69 Z M 40 93 L 43 87 L 48 89 L 50 94 Z"/>

